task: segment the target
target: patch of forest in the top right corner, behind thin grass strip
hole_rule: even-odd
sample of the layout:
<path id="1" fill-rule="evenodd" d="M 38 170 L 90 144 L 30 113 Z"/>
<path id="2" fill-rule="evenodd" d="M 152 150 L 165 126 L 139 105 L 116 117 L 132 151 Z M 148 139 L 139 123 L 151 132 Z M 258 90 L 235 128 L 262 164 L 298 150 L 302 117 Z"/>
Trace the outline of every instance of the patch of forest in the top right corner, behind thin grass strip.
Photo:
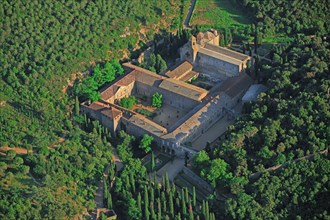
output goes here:
<path id="1" fill-rule="evenodd" d="M 235 0 L 244 10 L 250 11 L 260 32 L 267 36 L 296 33 L 307 35 L 327 34 L 330 26 L 328 0 Z"/>

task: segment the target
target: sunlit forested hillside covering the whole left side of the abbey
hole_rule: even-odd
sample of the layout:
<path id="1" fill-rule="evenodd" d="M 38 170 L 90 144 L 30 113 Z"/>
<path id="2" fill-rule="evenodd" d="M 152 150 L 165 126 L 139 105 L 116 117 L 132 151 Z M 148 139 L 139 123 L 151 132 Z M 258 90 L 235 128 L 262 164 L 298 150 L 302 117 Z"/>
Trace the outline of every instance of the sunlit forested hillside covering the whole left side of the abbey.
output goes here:
<path id="1" fill-rule="evenodd" d="M 21 152 L 0 155 L 1 219 L 72 218 L 94 209 L 110 141 L 117 142 L 77 114 L 76 96 L 97 99 L 100 84 L 122 74 L 113 59 L 134 55 L 156 33 L 175 32 L 186 3 L 2 1 L 0 147 Z"/>

